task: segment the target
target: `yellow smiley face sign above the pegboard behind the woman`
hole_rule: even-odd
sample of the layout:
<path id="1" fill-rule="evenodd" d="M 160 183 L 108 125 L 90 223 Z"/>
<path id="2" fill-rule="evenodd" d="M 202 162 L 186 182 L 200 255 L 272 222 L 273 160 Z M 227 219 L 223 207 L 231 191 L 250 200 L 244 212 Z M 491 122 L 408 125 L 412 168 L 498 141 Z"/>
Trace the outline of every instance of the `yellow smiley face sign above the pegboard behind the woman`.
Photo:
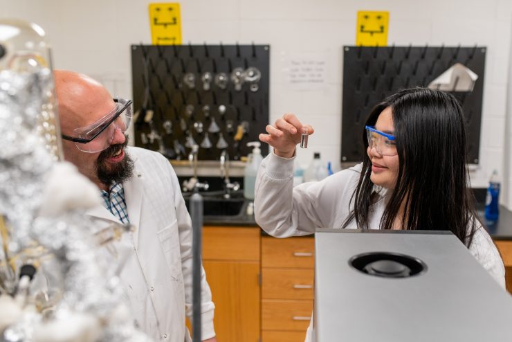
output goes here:
<path id="1" fill-rule="evenodd" d="M 390 12 L 357 12 L 356 45 L 386 46 Z"/>

